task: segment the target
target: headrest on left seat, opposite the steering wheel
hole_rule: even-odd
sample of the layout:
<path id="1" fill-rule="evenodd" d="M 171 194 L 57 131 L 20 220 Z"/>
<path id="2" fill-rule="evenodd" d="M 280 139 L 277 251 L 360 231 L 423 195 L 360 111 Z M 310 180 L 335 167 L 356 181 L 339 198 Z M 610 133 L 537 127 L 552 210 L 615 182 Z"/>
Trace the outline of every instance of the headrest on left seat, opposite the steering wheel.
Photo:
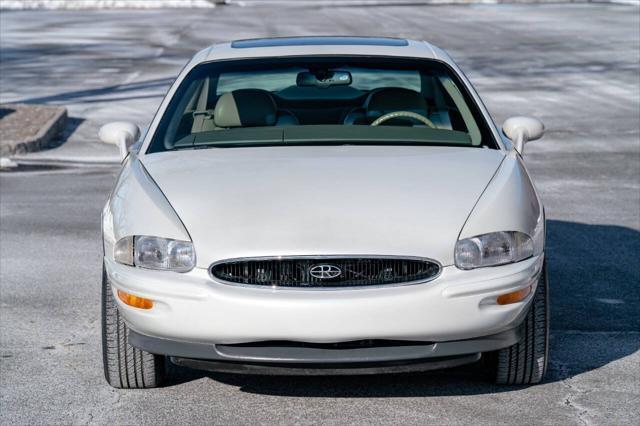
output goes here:
<path id="1" fill-rule="evenodd" d="M 277 107 L 266 90 L 240 89 L 224 93 L 213 111 L 217 127 L 256 127 L 276 124 Z"/>

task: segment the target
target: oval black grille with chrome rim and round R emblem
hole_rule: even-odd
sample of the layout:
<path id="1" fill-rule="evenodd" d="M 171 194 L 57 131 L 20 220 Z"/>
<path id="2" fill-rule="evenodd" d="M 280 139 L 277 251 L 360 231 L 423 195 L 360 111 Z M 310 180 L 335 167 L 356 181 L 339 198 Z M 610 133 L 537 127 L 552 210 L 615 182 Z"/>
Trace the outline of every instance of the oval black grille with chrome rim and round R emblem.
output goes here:
<path id="1" fill-rule="evenodd" d="M 218 280 L 265 287 L 406 284 L 428 281 L 439 273 L 440 265 L 432 260 L 395 257 L 232 259 L 211 266 L 211 275 Z"/>

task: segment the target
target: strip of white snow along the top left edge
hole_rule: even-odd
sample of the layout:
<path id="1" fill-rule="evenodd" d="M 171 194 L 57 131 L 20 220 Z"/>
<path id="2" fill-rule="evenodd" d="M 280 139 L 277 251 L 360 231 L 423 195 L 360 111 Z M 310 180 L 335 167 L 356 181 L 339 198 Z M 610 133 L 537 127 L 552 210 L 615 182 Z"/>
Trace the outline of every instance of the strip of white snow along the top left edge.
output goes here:
<path id="1" fill-rule="evenodd" d="M 214 7 L 210 0 L 0 0 L 0 9 L 159 9 Z"/>

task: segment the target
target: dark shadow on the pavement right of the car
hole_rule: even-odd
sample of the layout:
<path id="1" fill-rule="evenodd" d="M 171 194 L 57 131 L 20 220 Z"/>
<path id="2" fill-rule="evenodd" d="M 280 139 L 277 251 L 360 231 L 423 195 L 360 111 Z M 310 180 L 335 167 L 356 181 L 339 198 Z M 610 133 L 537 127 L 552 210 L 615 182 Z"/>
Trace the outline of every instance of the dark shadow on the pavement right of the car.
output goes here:
<path id="1" fill-rule="evenodd" d="M 547 221 L 552 328 L 640 331 L 640 232 Z"/>

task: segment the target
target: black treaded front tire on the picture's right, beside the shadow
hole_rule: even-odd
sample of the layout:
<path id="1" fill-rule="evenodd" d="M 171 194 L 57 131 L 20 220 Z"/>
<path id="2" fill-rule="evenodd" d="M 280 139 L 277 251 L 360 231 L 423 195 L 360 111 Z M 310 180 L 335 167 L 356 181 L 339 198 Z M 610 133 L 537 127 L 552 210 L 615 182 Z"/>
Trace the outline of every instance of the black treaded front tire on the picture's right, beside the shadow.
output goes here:
<path id="1" fill-rule="evenodd" d="M 549 285 L 546 262 L 531 307 L 524 320 L 524 336 L 513 346 L 489 356 L 495 382 L 502 385 L 540 383 L 549 360 Z"/>

